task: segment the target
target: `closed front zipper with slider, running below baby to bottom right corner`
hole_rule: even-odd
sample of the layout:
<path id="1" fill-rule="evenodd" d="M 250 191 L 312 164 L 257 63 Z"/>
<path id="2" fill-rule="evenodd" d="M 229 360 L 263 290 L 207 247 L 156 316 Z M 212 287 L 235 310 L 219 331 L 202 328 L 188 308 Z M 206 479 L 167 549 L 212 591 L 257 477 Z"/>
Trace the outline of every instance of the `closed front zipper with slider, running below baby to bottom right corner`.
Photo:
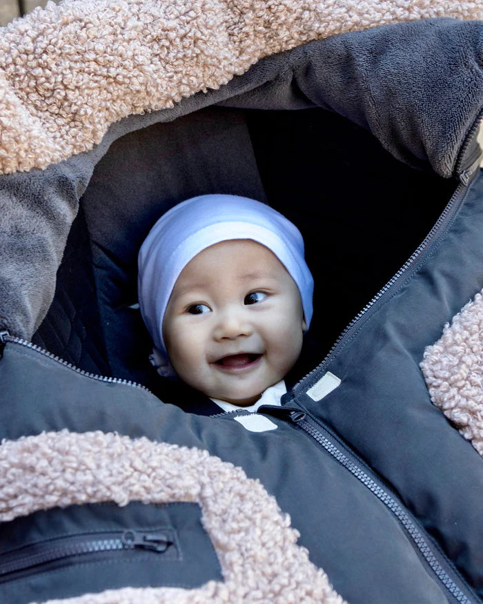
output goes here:
<path id="1" fill-rule="evenodd" d="M 283 408 L 277 408 L 282 410 Z M 278 415 L 280 411 L 273 408 L 272 413 Z M 268 409 L 267 409 L 268 411 Z M 441 581 L 451 595 L 460 604 L 471 604 L 477 602 L 473 599 L 474 596 L 471 594 L 471 599 L 462 592 L 460 587 L 453 581 L 451 576 L 438 561 L 437 556 L 433 553 L 428 541 L 424 538 L 421 530 L 415 522 L 411 519 L 408 512 L 402 505 L 397 503 L 395 496 L 393 496 L 386 488 L 383 487 L 382 483 L 376 476 L 368 469 L 364 469 L 362 462 L 342 445 L 331 432 L 317 422 L 314 418 L 305 413 L 304 411 L 289 410 L 288 416 L 290 421 L 293 422 L 297 427 L 302 429 L 308 436 L 310 436 L 315 442 L 318 443 L 328 454 L 330 454 L 337 462 L 343 465 L 348 471 L 357 478 L 365 487 L 367 487 L 388 509 L 389 511 L 399 520 L 406 534 L 411 538 L 415 547 L 420 552 L 428 566 L 431 568 L 435 576 Z M 449 561 L 448 561 L 449 562 Z M 450 563 L 451 564 L 451 563 Z M 457 570 L 451 567 L 453 572 L 457 574 Z M 462 584 L 464 581 L 461 581 Z"/>

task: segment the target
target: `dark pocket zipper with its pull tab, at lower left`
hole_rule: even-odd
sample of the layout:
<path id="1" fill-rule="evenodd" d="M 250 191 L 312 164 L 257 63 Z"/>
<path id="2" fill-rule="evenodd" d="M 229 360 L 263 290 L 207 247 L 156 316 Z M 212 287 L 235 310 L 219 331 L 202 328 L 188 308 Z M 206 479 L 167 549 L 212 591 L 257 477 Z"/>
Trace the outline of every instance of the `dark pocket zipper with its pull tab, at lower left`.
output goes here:
<path id="1" fill-rule="evenodd" d="M 0 556 L 0 577 L 12 572 L 31 569 L 34 566 L 55 562 L 71 556 L 143 549 L 163 554 L 174 540 L 165 532 L 127 530 L 95 535 L 61 537 L 28 545 Z M 5 559 L 2 559 L 5 558 Z"/>

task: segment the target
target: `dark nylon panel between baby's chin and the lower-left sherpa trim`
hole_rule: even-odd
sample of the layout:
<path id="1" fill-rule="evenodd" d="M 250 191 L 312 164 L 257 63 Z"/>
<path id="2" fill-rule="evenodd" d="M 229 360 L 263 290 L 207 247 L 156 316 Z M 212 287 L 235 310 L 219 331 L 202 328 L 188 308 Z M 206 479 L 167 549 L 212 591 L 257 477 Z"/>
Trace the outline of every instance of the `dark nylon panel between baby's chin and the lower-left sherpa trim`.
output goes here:
<path id="1" fill-rule="evenodd" d="M 451 601 L 391 512 L 286 422 L 273 419 L 278 429 L 253 433 L 230 416 L 194 416 L 141 389 L 81 376 L 18 344 L 6 345 L 0 382 L 0 438 L 101 429 L 208 449 L 262 480 L 299 529 L 299 545 L 348 601 Z"/>

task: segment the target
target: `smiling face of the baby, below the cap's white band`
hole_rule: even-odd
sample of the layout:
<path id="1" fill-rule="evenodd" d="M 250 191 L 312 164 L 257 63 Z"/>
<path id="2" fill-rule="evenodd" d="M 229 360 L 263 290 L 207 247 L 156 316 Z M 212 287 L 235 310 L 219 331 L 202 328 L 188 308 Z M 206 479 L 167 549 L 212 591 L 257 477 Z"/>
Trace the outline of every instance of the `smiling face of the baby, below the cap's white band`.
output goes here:
<path id="1" fill-rule="evenodd" d="M 178 277 L 163 322 L 178 376 L 210 398 L 251 405 L 282 380 L 306 329 L 284 265 L 251 240 L 200 252 Z"/>

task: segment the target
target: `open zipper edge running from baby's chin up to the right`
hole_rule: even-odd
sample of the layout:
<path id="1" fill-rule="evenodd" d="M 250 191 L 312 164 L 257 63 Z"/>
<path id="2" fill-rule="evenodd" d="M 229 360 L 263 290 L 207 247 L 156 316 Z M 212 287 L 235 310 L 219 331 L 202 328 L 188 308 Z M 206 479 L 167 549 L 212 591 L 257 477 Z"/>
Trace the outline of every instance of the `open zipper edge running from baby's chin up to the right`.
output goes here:
<path id="1" fill-rule="evenodd" d="M 482 114 L 483 115 L 483 114 Z M 377 311 L 379 311 L 384 304 L 395 295 L 397 289 L 404 281 L 411 277 L 419 268 L 417 262 L 421 260 L 424 253 L 431 251 L 433 243 L 437 240 L 443 228 L 449 226 L 457 211 L 460 209 L 464 195 L 466 194 L 467 187 L 460 183 L 455 189 L 455 192 L 451 196 L 446 208 L 437 219 L 437 222 L 431 228 L 428 235 L 424 238 L 424 241 L 417 247 L 416 251 L 411 257 L 403 264 L 403 266 L 397 271 L 397 273 L 389 280 L 386 285 L 374 296 L 374 298 L 364 306 L 364 309 L 359 312 L 348 324 L 346 329 L 339 335 L 333 347 L 328 351 L 326 358 L 315 367 L 310 373 L 307 373 L 302 380 L 299 380 L 293 387 L 293 396 L 299 391 L 306 390 L 313 386 L 320 377 L 322 371 L 325 371 L 326 367 L 330 362 L 333 361 L 335 356 L 345 347 L 346 343 L 349 342 L 358 331 L 361 329 L 362 324 L 371 318 Z"/>

